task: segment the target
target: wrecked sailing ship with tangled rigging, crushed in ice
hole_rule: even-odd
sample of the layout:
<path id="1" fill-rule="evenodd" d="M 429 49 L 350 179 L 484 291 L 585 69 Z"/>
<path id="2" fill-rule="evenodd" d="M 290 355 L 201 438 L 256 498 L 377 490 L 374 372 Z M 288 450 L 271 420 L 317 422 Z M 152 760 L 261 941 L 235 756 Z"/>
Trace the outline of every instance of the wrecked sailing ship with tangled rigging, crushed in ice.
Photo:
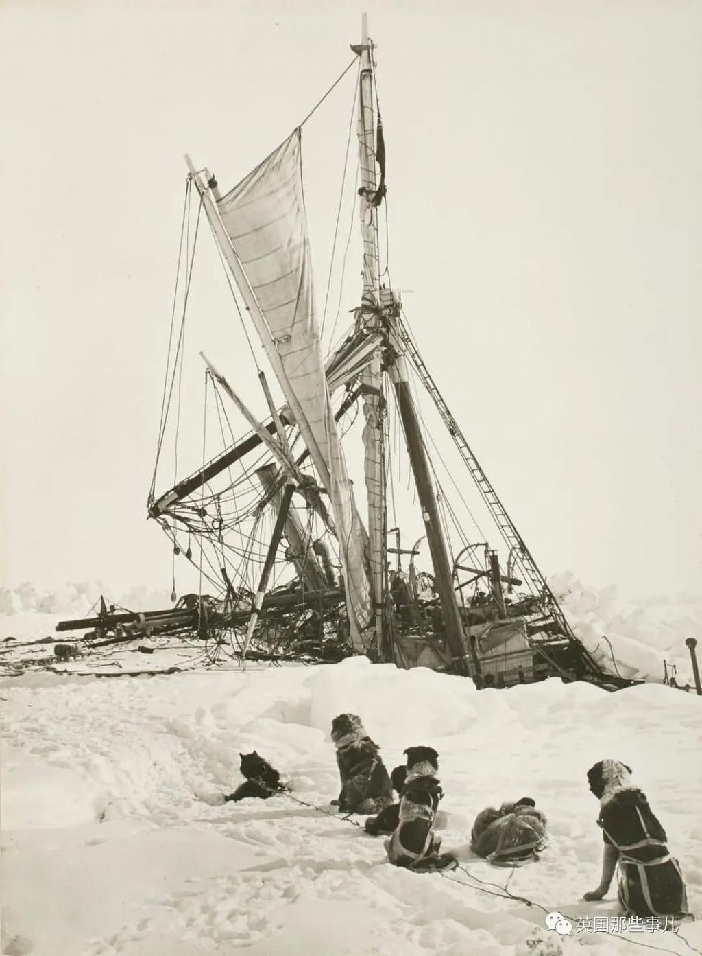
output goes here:
<path id="1" fill-rule="evenodd" d="M 350 189 L 362 284 L 350 328 L 325 350 L 312 284 L 303 124 L 228 191 L 186 157 L 184 217 L 191 218 L 183 234 L 197 235 L 206 217 L 233 315 L 266 357 L 259 368 L 262 352 L 251 348 L 266 413 L 249 407 L 203 356 L 209 407 L 225 417 L 232 438 L 230 412 L 249 430 L 157 491 L 181 374 L 184 324 L 180 332 L 172 328 L 148 516 L 169 538 L 174 560 L 196 569 L 198 590 L 179 599 L 174 585 L 175 607 L 146 614 L 116 612 L 103 601 L 97 618 L 58 629 L 93 627 L 106 641 L 190 634 L 204 641 L 211 662 L 224 655 L 334 661 L 364 654 L 464 675 L 480 686 L 560 675 L 613 689 L 627 682 L 607 673 L 573 633 L 422 359 L 387 267 L 381 270 L 387 157 L 365 16 L 351 50 L 358 171 Z M 185 304 L 191 251 L 181 238 L 176 288 L 180 282 Z M 183 305 L 183 323 L 185 311 Z M 424 425 L 422 402 L 434 409 L 463 468 L 450 475 L 457 494 L 477 492 L 489 533 L 472 537 L 456 520 L 436 475 L 435 436 Z M 363 481 L 354 484 L 350 461 L 358 453 Z M 405 455 L 423 531 L 409 547 L 394 511 L 394 469 Z"/>

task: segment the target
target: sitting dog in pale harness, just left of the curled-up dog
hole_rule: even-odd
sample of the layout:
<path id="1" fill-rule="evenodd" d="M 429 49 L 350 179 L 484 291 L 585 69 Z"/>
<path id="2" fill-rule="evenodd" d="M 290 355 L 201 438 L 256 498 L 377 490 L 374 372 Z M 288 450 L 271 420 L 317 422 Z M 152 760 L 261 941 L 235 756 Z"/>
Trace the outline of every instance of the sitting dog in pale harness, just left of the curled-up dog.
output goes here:
<path id="1" fill-rule="evenodd" d="M 435 836 L 436 811 L 443 796 L 438 773 L 438 754 L 431 747 L 409 747 L 407 778 L 400 794 L 398 822 L 385 841 L 394 866 L 411 870 L 441 870 L 456 865 L 449 854 L 439 855 L 441 837 Z"/>

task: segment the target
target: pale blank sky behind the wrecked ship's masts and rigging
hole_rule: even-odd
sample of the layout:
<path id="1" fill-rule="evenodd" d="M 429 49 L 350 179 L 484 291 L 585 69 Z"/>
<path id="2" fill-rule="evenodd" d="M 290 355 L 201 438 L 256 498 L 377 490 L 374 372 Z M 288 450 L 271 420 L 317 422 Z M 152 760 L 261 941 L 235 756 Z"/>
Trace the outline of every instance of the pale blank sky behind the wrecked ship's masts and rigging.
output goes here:
<path id="1" fill-rule="evenodd" d="M 0 584 L 170 588 L 145 514 L 182 154 L 238 182 L 351 61 L 364 9 L 394 284 L 412 290 L 422 354 L 524 540 L 546 575 L 629 597 L 702 592 L 693 0 L 5 0 Z M 303 138 L 320 314 L 352 84 L 353 71 Z M 193 435 L 200 349 L 251 394 L 201 244 Z M 359 270 L 348 263 L 342 317 Z"/>

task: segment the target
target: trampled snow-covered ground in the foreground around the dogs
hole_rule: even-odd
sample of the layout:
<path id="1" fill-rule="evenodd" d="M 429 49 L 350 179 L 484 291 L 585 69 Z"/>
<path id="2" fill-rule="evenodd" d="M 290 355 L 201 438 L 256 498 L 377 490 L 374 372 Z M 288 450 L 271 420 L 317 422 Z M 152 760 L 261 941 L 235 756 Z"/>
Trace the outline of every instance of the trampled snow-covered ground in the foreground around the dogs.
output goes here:
<path id="1" fill-rule="evenodd" d="M 602 855 L 585 771 L 614 757 L 649 794 L 700 915 L 695 695 L 659 684 L 609 694 L 557 679 L 477 691 L 359 658 L 118 680 L 28 672 L 0 683 L 6 956 L 690 951 L 670 932 L 561 938 L 544 911 L 573 923 L 617 912 L 613 890 L 582 901 Z M 408 746 L 439 751 L 444 848 L 466 843 L 486 804 L 528 794 L 549 820 L 541 860 L 511 871 L 464 850 L 468 873 L 391 866 L 382 839 L 329 804 L 330 721 L 346 710 L 362 715 L 389 769 Z M 291 796 L 224 804 L 239 752 L 254 749 L 285 773 Z M 543 909 L 505 898 L 507 884 Z M 680 935 L 702 949 L 702 923 L 683 923 Z"/>

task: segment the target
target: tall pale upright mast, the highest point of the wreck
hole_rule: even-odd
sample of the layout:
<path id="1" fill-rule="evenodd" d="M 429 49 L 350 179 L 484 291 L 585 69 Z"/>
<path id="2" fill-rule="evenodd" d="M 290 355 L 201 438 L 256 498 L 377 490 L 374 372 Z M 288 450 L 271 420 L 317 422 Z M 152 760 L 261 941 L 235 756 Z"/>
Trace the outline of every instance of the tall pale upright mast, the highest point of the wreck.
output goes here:
<path id="1" fill-rule="evenodd" d="M 375 106 L 372 77 L 372 43 L 368 36 L 368 14 L 361 18 L 361 44 L 351 50 L 361 59 L 358 76 L 358 163 L 360 168 L 359 216 L 363 240 L 363 295 L 359 321 L 368 329 L 379 328 L 379 281 L 377 211 L 375 195 Z M 385 532 L 385 446 L 382 422 L 382 372 L 380 356 L 372 357 L 361 375 L 363 414 L 366 427 L 364 472 L 368 494 L 368 534 L 373 607 L 375 616 L 375 648 L 383 660 L 386 644 L 383 635 L 385 604 L 388 590 Z"/>

